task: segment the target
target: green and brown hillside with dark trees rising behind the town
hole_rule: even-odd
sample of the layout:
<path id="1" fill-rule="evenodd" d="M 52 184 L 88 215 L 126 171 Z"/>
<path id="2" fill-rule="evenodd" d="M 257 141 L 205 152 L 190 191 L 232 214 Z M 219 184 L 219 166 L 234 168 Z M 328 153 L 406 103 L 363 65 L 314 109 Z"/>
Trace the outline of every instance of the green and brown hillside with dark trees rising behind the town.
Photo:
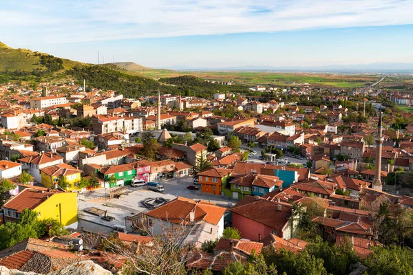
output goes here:
<path id="1" fill-rule="evenodd" d="M 193 76 L 164 77 L 158 80 L 165 70 L 159 70 L 157 77 L 152 78 L 146 73 L 156 72 L 157 69 L 145 67 L 145 76 L 143 76 L 141 72 L 131 72 L 127 68 L 136 70 L 144 67 L 130 62 L 105 65 L 85 64 L 50 54 L 12 49 L 0 43 L 0 83 L 8 83 L 10 80 L 25 80 L 32 83 L 42 81 L 67 83 L 74 80 L 82 84 L 85 79 L 89 87 L 115 90 L 130 98 L 156 95 L 158 89 L 162 94 L 180 93 L 203 98 L 213 98 L 217 90 L 248 92 L 246 87 L 206 83 L 201 78 Z"/>

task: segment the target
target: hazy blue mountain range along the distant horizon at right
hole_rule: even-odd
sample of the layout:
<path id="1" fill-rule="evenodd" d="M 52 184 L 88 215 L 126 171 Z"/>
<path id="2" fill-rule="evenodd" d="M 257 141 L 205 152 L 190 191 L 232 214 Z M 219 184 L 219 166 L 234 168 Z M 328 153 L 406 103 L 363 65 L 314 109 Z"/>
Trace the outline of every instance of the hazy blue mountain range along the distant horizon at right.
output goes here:
<path id="1" fill-rule="evenodd" d="M 377 73 L 413 73 L 413 63 L 370 63 L 355 65 L 326 65 L 326 66 L 267 66 L 251 65 L 238 67 L 189 67 L 185 65 L 176 65 L 167 67 L 173 70 L 205 70 L 205 71 L 284 71 L 284 72 L 377 72 Z"/>

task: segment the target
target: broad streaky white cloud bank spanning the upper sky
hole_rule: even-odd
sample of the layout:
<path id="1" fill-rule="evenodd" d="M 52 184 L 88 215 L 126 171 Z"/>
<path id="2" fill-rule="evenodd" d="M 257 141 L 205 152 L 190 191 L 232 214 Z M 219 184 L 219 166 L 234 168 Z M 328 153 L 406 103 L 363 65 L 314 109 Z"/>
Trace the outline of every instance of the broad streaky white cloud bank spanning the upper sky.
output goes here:
<path id="1" fill-rule="evenodd" d="M 0 37 L 19 28 L 19 39 L 55 43 L 413 23 L 413 1 L 402 0 L 13 3 L 0 7 Z"/>

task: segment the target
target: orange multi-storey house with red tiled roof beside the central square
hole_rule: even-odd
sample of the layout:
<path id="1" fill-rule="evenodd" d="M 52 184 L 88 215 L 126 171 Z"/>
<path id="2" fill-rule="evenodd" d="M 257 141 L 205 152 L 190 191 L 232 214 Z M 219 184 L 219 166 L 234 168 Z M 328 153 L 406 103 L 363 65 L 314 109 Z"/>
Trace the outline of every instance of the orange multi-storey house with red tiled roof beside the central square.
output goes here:
<path id="1" fill-rule="evenodd" d="M 231 169 L 213 167 L 198 173 L 198 183 L 202 186 L 202 192 L 221 195 L 221 190 L 226 186 L 226 181 L 231 172 Z"/>

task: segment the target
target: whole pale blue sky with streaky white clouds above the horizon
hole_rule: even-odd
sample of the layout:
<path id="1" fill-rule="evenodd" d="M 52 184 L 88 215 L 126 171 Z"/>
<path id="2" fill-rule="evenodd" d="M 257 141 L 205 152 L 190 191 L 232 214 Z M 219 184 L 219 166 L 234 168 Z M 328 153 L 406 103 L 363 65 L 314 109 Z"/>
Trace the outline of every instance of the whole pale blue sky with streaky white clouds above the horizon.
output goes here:
<path id="1" fill-rule="evenodd" d="M 412 14 L 412 0 L 0 0 L 0 41 L 155 68 L 413 63 Z"/>

